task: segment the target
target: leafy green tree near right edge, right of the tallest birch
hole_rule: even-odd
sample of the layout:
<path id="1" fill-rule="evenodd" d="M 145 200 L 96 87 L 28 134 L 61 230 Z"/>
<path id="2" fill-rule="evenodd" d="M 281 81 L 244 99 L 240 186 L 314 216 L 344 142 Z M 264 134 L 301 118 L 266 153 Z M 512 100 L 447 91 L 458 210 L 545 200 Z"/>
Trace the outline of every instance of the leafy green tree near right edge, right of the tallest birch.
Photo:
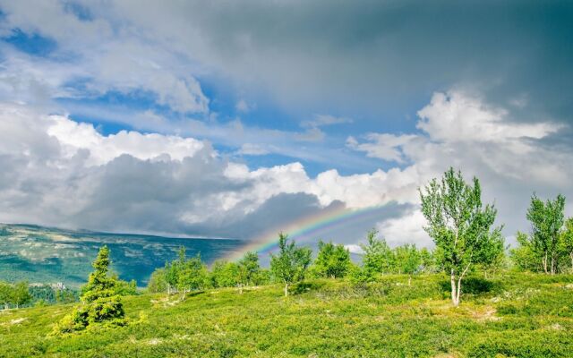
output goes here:
<path id="1" fill-rule="evenodd" d="M 532 226 L 533 249 L 542 258 L 543 271 L 556 273 L 559 261 L 560 230 L 563 226 L 565 198 L 558 195 L 555 200 L 543 202 L 534 194 L 527 209 L 527 220 Z"/>

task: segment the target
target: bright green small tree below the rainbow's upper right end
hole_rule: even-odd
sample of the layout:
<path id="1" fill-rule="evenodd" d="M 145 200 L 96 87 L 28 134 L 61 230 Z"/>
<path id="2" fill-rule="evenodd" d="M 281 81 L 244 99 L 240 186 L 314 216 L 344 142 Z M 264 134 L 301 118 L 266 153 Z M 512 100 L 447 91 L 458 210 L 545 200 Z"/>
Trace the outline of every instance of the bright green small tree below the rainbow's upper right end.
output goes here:
<path id="1" fill-rule="evenodd" d="M 389 273 L 394 265 L 394 255 L 386 240 L 378 238 L 378 230 L 372 229 L 366 234 L 366 244 L 361 243 L 363 271 L 370 279 L 377 274 Z"/>

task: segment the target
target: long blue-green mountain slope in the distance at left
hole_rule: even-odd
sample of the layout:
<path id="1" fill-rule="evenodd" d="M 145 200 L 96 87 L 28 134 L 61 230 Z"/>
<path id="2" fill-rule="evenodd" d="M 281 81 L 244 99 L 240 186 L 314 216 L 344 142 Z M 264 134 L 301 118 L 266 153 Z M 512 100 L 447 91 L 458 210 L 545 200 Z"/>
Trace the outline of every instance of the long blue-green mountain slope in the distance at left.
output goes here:
<path id="1" fill-rule="evenodd" d="M 119 277 L 145 286 L 151 272 L 174 259 L 180 246 L 188 256 L 201 252 L 201 259 L 210 263 L 239 249 L 243 242 L 0 224 L 0 280 L 80 286 L 104 244 L 111 250 L 113 269 Z"/>

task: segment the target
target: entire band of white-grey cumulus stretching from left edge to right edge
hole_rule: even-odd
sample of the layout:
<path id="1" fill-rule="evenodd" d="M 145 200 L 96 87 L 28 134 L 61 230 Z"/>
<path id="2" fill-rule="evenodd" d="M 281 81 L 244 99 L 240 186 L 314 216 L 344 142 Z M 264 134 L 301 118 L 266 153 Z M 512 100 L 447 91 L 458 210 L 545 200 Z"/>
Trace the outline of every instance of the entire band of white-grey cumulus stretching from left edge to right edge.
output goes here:
<path id="1" fill-rule="evenodd" d="M 560 125 L 523 126 L 503 108 L 458 92 L 435 94 L 419 115 L 421 132 L 369 134 L 349 144 L 405 166 L 357 175 L 332 169 L 311 177 L 298 162 L 252 170 L 205 141 L 158 133 L 104 135 L 68 116 L 4 103 L 0 221 L 249 238 L 331 205 L 385 206 L 380 217 L 322 238 L 355 244 L 378 222 L 389 243 L 426 246 L 431 242 L 423 233 L 417 189 L 448 166 L 482 179 L 484 199 L 496 202 L 508 234 L 526 227 L 532 192 L 573 195 L 567 180 L 573 153 L 542 143 Z M 441 125 L 444 118 L 448 125 Z M 468 128 L 487 131 L 492 121 L 506 131 L 471 136 Z M 450 127 L 466 133 L 465 139 Z"/>

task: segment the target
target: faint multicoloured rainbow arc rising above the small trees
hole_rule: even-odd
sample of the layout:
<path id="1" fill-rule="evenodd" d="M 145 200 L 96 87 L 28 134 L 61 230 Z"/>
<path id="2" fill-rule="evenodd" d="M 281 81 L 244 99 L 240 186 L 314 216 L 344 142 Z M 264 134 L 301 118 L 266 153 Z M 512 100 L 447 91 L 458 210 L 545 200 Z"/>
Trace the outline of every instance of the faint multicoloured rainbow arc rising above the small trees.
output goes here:
<path id="1" fill-rule="evenodd" d="M 269 253 L 278 247 L 278 233 L 288 234 L 288 237 L 297 243 L 305 243 L 312 239 L 321 238 L 325 234 L 340 226 L 380 217 L 380 209 L 384 206 L 372 206 L 363 209 L 346 209 L 343 205 L 338 208 L 324 209 L 318 214 L 302 217 L 286 225 L 277 226 L 265 231 L 248 241 L 239 251 L 227 255 L 226 260 L 238 260 L 246 251 Z M 328 239 L 328 238 L 325 238 Z"/>

